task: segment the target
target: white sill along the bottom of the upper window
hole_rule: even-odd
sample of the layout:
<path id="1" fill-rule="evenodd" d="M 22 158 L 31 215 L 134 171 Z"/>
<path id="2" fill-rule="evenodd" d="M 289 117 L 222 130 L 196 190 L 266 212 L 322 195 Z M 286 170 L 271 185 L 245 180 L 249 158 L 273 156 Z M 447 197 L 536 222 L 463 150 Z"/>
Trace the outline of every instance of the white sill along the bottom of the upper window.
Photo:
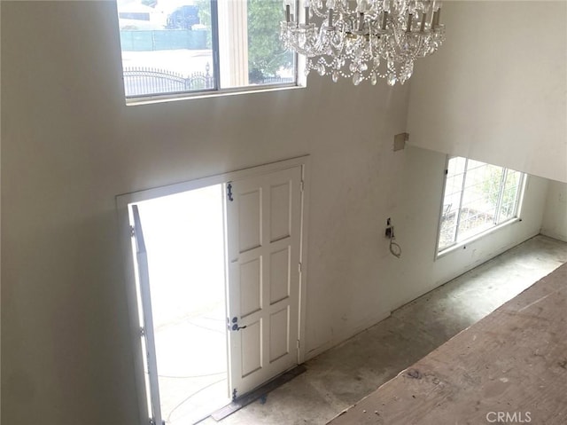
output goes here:
<path id="1" fill-rule="evenodd" d="M 305 85 L 300 84 L 290 84 L 290 85 L 273 85 L 273 86 L 261 86 L 261 88 L 249 86 L 249 87 L 236 87 L 234 89 L 223 89 L 221 91 L 197 91 L 197 92 L 184 92 L 175 94 L 163 94 L 163 95 L 153 95 L 144 96 L 137 98 L 126 98 L 126 106 L 138 106 L 138 105 L 151 105 L 163 102 L 175 102 L 179 100 L 193 100 L 202 98 L 221 98 L 225 96 L 235 96 L 241 94 L 253 94 L 253 93 L 266 93 L 271 91 L 288 91 L 296 89 L 304 89 Z"/>

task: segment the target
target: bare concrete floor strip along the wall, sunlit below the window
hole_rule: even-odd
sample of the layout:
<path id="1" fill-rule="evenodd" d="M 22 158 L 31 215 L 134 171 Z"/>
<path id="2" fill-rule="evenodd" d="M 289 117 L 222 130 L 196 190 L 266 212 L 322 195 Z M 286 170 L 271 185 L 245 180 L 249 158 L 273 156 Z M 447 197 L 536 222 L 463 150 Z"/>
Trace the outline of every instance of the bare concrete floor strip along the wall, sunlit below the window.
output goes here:
<path id="1" fill-rule="evenodd" d="M 306 373 L 269 393 L 263 404 L 247 405 L 220 423 L 325 424 L 566 262 L 567 243 L 527 240 L 307 361 Z"/>

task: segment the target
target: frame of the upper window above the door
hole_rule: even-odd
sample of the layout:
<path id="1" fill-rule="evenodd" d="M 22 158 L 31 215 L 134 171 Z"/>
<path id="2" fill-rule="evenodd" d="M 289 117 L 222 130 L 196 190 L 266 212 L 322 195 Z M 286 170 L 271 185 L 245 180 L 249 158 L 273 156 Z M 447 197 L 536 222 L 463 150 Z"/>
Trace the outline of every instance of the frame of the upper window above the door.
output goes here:
<path id="1" fill-rule="evenodd" d="M 293 81 L 291 83 L 268 83 L 268 84 L 256 84 L 256 85 L 245 85 L 238 87 L 221 88 L 221 50 L 220 50 L 220 35 L 219 35 L 219 10 L 218 2 L 220 0 L 210 0 L 211 5 L 211 51 L 213 57 L 213 80 L 214 87 L 210 89 L 200 89 L 193 91 L 168 91 L 167 93 L 152 93 L 146 95 L 131 95 L 126 94 L 126 89 L 124 88 L 124 98 L 126 100 L 127 106 L 135 105 L 145 105 L 152 103 L 159 103 L 164 101 L 175 101 L 175 100 L 188 100 L 193 98 L 215 98 L 220 96 L 230 96 L 235 94 L 245 94 L 245 93 L 255 93 L 255 92 L 267 92 L 267 91 L 281 91 L 289 89 L 300 89 L 307 86 L 307 78 L 301 78 L 303 73 L 299 72 L 299 69 L 303 69 L 305 66 L 305 60 L 299 57 L 296 51 L 292 51 L 293 55 Z M 246 1 L 246 0 L 243 0 Z M 299 0 L 295 0 L 295 8 L 299 11 Z M 119 13 L 117 13 L 117 16 Z M 283 20 L 283 12 L 282 12 Z M 279 32 L 279 28 L 275 28 Z M 120 43 L 120 57 L 122 55 L 122 46 Z M 123 68 L 123 65 L 122 65 Z M 122 75 L 124 70 L 122 69 Z M 124 77 L 122 76 L 122 79 Z"/>

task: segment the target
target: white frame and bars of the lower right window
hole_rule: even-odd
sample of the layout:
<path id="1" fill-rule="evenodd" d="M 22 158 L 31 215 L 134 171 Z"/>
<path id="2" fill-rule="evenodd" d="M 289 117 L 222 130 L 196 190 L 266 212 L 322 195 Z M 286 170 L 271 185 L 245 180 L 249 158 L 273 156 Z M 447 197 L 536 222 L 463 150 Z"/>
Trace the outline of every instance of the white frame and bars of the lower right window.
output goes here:
<path id="1" fill-rule="evenodd" d="M 494 219 L 494 224 L 489 227 L 488 229 L 485 229 L 481 232 L 475 233 L 474 235 L 470 236 L 469 238 L 466 238 L 464 240 L 458 240 L 458 225 L 459 225 L 459 216 L 461 215 L 461 210 L 462 210 L 462 199 L 463 199 L 463 193 L 464 193 L 464 185 L 466 183 L 466 174 L 467 174 L 467 170 L 468 170 L 468 165 L 469 165 L 469 160 L 470 158 L 465 158 L 465 157 L 460 157 L 463 158 L 465 160 L 465 167 L 464 167 L 464 172 L 463 172 L 463 178 L 462 178 L 462 188 L 461 188 L 461 199 L 459 201 L 459 209 L 457 209 L 457 221 L 455 223 L 456 229 L 455 229 L 455 237 L 454 237 L 454 243 L 451 244 L 450 246 L 446 247 L 446 248 L 442 248 L 439 249 L 439 242 L 441 240 L 441 230 L 442 230 L 442 225 L 443 225 L 443 211 L 444 211 L 444 206 L 445 206 L 445 195 L 447 192 L 447 177 L 448 177 L 448 170 L 449 170 L 449 161 L 451 161 L 453 158 L 459 158 L 459 156 L 457 155 L 447 155 L 446 161 L 445 161 L 445 169 L 444 169 L 444 177 L 443 177 L 443 189 L 442 189 L 442 193 L 441 193 L 441 200 L 440 200 L 440 208 L 439 208 L 439 223 L 438 223 L 438 229 L 437 229 L 437 240 L 435 243 L 435 259 L 438 259 L 442 256 L 447 256 L 447 254 L 450 254 L 458 249 L 461 248 L 466 248 L 467 244 L 470 244 L 471 242 L 474 242 L 475 240 L 479 240 L 481 238 L 484 238 L 486 235 L 491 234 L 493 232 L 497 232 L 499 231 L 501 228 L 508 226 L 509 224 L 514 224 L 514 223 L 518 223 L 522 221 L 522 207 L 524 204 L 524 194 L 525 194 L 525 188 L 527 186 L 527 182 L 528 182 L 528 178 L 529 176 L 526 173 L 523 173 L 521 171 L 517 171 L 517 170 L 512 170 L 512 171 L 517 171 L 520 174 L 520 181 L 518 182 L 518 189 L 517 189 L 517 198 L 516 198 L 516 202 L 515 202 L 515 206 L 514 206 L 514 211 L 515 211 L 515 215 L 510 217 L 507 220 L 502 221 L 501 223 L 498 223 L 498 217 L 500 217 L 501 215 L 501 201 L 503 198 L 503 189 L 504 189 L 504 185 L 501 184 L 500 186 L 500 190 L 498 193 L 498 201 L 496 203 L 495 206 L 495 210 L 496 210 L 496 214 L 495 214 L 495 219 Z M 476 160 L 474 160 L 476 161 Z M 478 161 L 478 162 L 482 162 L 482 161 Z M 489 164 L 488 162 L 484 162 L 487 165 L 494 165 L 494 164 Z M 500 167 L 502 169 L 502 177 L 501 177 L 501 181 L 506 181 L 506 177 L 508 175 L 508 171 L 510 169 L 506 168 L 506 167 L 501 167 L 501 166 L 496 166 L 496 167 Z"/>

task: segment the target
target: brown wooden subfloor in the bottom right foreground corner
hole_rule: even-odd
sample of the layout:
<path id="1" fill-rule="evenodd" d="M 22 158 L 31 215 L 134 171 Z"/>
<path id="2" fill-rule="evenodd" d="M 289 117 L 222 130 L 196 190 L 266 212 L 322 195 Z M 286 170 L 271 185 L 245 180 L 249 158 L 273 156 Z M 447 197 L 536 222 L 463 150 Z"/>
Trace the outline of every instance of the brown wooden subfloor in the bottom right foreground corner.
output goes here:
<path id="1" fill-rule="evenodd" d="M 329 422 L 567 424 L 567 264 Z"/>

